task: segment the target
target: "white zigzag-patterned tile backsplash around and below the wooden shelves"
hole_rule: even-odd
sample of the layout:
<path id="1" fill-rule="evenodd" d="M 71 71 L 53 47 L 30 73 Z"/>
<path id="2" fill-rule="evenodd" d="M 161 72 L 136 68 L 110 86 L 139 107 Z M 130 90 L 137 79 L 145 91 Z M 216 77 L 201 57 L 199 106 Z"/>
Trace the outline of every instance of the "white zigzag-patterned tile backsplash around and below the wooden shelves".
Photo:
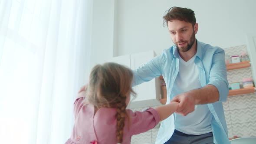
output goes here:
<path id="1" fill-rule="evenodd" d="M 224 49 L 226 55 L 240 55 L 247 52 L 246 45 Z M 243 78 L 252 77 L 251 68 L 236 69 L 227 72 L 229 83 L 242 82 Z M 229 137 L 256 136 L 256 94 L 236 95 L 223 102 Z M 145 108 L 134 108 L 133 111 L 142 111 Z M 131 137 L 131 144 L 154 143 L 158 134 L 158 124 L 154 129 Z"/>

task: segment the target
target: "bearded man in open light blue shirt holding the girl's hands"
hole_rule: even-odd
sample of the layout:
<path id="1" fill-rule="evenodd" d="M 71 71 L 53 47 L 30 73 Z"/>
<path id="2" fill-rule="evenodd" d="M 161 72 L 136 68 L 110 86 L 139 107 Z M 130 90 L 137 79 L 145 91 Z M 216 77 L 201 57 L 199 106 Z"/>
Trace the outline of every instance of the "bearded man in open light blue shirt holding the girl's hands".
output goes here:
<path id="1" fill-rule="evenodd" d="M 230 144 L 222 102 L 229 88 L 224 50 L 195 38 L 194 11 L 172 7 L 163 17 L 174 46 L 134 70 L 134 85 L 163 75 L 167 103 L 180 102 L 162 121 L 156 144 Z"/>

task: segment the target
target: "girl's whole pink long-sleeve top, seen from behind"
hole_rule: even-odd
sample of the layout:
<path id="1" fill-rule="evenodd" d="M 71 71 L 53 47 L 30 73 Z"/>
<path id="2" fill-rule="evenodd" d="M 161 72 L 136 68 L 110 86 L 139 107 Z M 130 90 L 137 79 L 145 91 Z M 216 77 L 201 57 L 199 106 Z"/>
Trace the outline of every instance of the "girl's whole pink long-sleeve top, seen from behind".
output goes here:
<path id="1" fill-rule="evenodd" d="M 94 106 L 84 104 L 83 97 L 74 103 L 75 124 L 66 144 L 117 144 L 116 109 L 100 108 L 94 115 Z M 126 110 L 131 124 L 125 119 L 122 144 L 130 144 L 131 136 L 148 131 L 158 124 L 159 114 L 153 108 L 133 112 Z M 96 143 L 97 142 L 97 143 Z"/>

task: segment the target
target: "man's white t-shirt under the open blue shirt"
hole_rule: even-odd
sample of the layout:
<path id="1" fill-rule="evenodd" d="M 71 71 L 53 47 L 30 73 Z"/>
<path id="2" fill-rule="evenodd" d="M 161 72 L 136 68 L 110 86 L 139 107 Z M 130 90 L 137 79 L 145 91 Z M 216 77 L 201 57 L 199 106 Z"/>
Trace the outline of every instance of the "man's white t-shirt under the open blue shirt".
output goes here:
<path id="1" fill-rule="evenodd" d="M 174 82 L 171 97 L 181 93 L 202 88 L 199 81 L 199 71 L 194 62 L 196 55 L 185 62 L 180 56 L 179 73 Z M 211 121 L 213 118 L 207 105 L 195 105 L 195 111 L 183 116 L 174 113 L 175 129 L 185 134 L 206 134 L 212 131 Z"/>

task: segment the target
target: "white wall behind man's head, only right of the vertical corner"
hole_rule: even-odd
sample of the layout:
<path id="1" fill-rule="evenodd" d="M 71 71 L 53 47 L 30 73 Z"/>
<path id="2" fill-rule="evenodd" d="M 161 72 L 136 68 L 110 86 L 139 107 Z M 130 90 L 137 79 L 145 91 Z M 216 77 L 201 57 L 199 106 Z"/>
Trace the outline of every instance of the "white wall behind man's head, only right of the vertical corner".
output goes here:
<path id="1" fill-rule="evenodd" d="M 213 46 L 244 45 L 246 33 L 256 33 L 255 0 L 118 0 L 118 55 L 170 47 L 162 16 L 173 6 L 194 10 L 197 39 Z"/>

